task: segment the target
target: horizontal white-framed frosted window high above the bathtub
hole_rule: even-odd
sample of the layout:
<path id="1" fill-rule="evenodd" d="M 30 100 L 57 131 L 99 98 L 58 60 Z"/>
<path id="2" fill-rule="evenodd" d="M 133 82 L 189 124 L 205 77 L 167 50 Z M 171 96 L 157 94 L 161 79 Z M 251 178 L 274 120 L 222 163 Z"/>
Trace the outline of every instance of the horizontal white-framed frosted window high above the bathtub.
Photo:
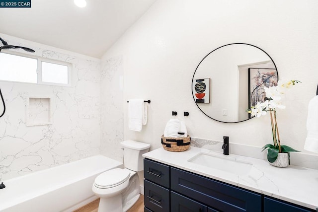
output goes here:
<path id="1" fill-rule="evenodd" d="M 0 80 L 49 85 L 71 85 L 71 64 L 0 53 Z"/>

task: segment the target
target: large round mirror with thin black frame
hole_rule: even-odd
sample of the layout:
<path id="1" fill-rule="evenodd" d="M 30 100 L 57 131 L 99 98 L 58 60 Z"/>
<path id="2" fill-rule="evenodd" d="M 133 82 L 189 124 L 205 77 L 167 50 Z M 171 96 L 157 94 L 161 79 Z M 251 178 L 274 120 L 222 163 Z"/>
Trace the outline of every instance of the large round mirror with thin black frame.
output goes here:
<path id="1" fill-rule="evenodd" d="M 192 78 L 193 99 L 211 119 L 225 123 L 246 121 L 246 112 L 265 98 L 264 87 L 277 85 L 278 72 L 262 49 L 245 43 L 221 46 L 197 66 Z"/>

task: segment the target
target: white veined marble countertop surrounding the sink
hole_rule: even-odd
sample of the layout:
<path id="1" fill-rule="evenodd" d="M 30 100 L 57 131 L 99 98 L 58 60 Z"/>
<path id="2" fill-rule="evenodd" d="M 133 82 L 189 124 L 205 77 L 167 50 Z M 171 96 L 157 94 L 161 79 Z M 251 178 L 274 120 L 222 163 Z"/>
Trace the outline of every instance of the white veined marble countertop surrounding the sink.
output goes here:
<path id="1" fill-rule="evenodd" d="M 200 152 L 212 153 L 221 158 L 232 157 L 248 161 L 252 163 L 252 168 L 248 173 L 238 175 L 187 161 Z M 143 154 L 143 156 L 310 209 L 316 210 L 318 208 L 317 169 L 292 165 L 286 168 L 278 168 L 270 165 L 266 160 L 235 154 L 223 155 L 221 152 L 194 146 L 190 146 L 188 150 L 182 152 L 172 152 L 158 148 Z"/>

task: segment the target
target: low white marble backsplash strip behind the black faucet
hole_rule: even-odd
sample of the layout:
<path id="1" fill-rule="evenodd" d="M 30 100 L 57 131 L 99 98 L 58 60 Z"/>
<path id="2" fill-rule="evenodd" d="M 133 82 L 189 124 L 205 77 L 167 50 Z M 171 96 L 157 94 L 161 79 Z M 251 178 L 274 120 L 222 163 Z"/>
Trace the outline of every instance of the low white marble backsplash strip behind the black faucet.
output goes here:
<path id="1" fill-rule="evenodd" d="M 230 138 L 231 139 L 231 138 Z M 223 152 L 223 141 L 191 138 L 191 146 L 206 148 L 213 151 Z M 231 143 L 229 145 L 230 154 L 237 154 L 247 157 L 267 160 L 267 151 L 261 151 L 262 148 L 258 146 L 244 145 L 239 143 Z M 290 164 L 295 166 L 318 169 L 318 155 L 308 154 L 303 152 L 291 152 Z"/>

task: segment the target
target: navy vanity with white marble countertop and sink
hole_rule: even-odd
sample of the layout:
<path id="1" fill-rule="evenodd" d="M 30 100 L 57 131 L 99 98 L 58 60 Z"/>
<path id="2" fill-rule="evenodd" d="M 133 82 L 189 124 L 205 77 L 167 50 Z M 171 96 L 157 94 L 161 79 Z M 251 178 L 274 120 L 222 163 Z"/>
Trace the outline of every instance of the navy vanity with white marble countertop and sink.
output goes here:
<path id="1" fill-rule="evenodd" d="M 318 208 L 316 169 L 277 168 L 266 160 L 194 146 L 184 152 L 159 148 L 143 156 L 145 212 L 316 212 Z"/>

